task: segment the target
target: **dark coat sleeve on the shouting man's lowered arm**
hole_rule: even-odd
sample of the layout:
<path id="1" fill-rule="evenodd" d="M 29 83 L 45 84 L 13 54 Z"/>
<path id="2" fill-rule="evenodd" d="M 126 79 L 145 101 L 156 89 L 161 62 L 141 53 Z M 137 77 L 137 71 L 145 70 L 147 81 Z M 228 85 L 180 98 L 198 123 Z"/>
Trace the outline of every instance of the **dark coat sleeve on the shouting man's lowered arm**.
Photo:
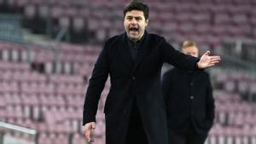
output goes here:
<path id="1" fill-rule="evenodd" d="M 108 79 L 108 49 L 105 44 L 91 74 L 89 86 L 84 99 L 83 125 L 96 122 L 98 102 Z"/>

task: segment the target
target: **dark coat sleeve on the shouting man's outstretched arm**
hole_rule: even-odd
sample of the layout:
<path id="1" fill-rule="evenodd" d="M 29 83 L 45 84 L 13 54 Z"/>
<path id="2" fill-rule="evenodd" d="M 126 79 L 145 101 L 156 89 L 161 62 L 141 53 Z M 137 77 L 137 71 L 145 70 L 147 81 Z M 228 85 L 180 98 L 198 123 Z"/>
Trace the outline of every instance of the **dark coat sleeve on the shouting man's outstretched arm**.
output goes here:
<path id="1" fill-rule="evenodd" d="M 165 38 L 162 38 L 160 43 L 160 55 L 163 62 L 170 63 L 180 69 L 200 70 L 197 66 L 198 58 L 191 55 L 184 55 L 174 49 L 171 44 L 166 42 Z"/>

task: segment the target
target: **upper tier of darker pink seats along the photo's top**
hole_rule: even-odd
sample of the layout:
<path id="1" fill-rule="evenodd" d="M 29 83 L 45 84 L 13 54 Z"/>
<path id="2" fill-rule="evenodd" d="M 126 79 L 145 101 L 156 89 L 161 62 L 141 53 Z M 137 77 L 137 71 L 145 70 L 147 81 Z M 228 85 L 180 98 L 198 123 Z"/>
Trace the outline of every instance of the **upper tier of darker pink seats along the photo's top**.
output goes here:
<path id="1" fill-rule="evenodd" d="M 192 39 L 214 49 L 225 38 L 255 38 L 252 31 L 255 29 L 254 12 L 250 10 L 256 4 L 253 0 L 242 3 L 239 0 L 163 0 L 147 3 L 151 9 L 148 30 L 163 30 L 160 33 L 167 40 L 175 39 L 173 43 Z M 122 9 L 125 3 L 122 1 L 51 1 L 49 11 L 44 0 L 3 0 L 2 5 L 20 9 L 18 12 L 24 14 L 26 20 L 34 19 L 32 22 L 38 26 L 42 26 L 42 20 L 46 21 L 46 16 L 50 15 L 54 27 L 59 27 L 59 30 L 69 28 L 74 33 L 80 33 L 79 37 L 94 43 L 102 43 L 123 31 Z"/>

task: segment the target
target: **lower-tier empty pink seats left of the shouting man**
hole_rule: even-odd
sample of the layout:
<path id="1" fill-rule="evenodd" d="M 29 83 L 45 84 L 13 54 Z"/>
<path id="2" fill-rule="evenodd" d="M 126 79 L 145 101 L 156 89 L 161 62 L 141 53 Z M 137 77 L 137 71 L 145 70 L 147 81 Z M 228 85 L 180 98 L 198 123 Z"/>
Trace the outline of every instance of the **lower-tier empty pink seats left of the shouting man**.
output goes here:
<path id="1" fill-rule="evenodd" d="M 26 54 L 28 46 L 32 55 L 22 55 Z M 38 63 L 54 66 L 54 50 L 40 48 L 38 44 L 0 43 L 0 119 L 38 130 L 41 144 L 67 143 L 70 133 L 78 133 L 81 137 L 84 92 L 99 53 L 94 46 L 85 48 L 61 43 L 57 48 L 60 64 L 66 61 L 72 66 L 55 74 L 38 71 L 32 66 Z M 31 63 L 28 60 L 32 60 Z M 101 137 L 104 123 L 102 117 L 100 119 L 102 126 L 99 125 L 96 133 Z M 48 141 L 44 141 L 45 137 Z"/>

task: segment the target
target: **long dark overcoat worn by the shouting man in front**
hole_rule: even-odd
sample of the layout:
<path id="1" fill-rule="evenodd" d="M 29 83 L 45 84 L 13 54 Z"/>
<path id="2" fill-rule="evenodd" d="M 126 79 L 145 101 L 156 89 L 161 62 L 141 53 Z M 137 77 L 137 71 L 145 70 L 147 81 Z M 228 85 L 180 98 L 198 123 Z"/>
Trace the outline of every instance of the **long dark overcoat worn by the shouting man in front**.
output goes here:
<path id="1" fill-rule="evenodd" d="M 106 143 L 125 144 L 132 99 L 137 99 L 148 144 L 167 144 L 166 107 L 160 73 L 164 62 L 197 69 L 197 58 L 178 52 L 164 37 L 145 32 L 133 62 L 126 33 L 110 38 L 96 60 L 84 101 L 83 124 L 96 121 L 98 101 L 110 76 L 105 103 Z"/>

